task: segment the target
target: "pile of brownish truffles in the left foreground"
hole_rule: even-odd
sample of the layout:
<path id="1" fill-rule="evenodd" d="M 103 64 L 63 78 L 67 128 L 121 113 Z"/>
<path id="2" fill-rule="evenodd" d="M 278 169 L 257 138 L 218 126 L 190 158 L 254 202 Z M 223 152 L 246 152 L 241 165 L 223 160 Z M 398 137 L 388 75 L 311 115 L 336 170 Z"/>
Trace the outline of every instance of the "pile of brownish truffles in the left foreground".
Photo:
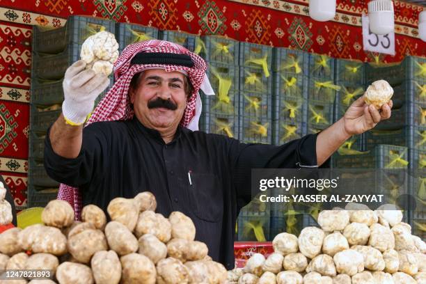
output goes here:
<path id="1" fill-rule="evenodd" d="M 181 212 L 165 218 L 156 208 L 155 196 L 146 191 L 111 200 L 109 223 L 95 205 L 83 208 L 80 222 L 66 201 L 52 200 L 42 212 L 44 225 L 0 234 L 0 270 L 54 271 L 54 280 L 17 284 L 225 283 L 225 267 L 194 241 L 191 219 Z"/>

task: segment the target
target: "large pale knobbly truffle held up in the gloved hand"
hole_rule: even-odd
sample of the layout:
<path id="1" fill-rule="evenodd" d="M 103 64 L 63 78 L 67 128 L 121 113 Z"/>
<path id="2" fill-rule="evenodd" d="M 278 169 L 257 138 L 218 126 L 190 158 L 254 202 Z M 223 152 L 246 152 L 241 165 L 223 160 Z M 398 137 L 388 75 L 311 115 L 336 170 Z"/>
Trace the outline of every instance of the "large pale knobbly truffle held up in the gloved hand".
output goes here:
<path id="1" fill-rule="evenodd" d="M 108 76 L 118 58 L 118 42 L 108 31 L 95 33 L 83 42 L 80 58 L 86 62 L 86 69 Z"/>

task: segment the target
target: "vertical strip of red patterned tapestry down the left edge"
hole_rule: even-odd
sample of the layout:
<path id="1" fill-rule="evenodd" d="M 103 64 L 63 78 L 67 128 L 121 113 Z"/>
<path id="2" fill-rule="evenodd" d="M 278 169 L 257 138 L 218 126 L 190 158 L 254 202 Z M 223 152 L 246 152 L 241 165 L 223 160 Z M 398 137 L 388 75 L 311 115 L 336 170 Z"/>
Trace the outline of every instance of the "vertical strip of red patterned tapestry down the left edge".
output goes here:
<path id="1" fill-rule="evenodd" d="M 0 21 L 0 172 L 26 207 L 31 26 Z"/>

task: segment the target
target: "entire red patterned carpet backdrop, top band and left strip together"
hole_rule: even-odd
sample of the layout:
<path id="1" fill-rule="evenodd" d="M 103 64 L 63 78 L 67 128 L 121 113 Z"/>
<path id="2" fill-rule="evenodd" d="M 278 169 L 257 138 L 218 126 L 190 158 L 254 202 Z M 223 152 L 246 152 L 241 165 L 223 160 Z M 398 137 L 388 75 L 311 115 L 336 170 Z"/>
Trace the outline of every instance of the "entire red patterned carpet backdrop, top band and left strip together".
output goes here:
<path id="1" fill-rule="evenodd" d="M 308 17 L 308 0 L 0 0 L 0 172 L 15 203 L 26 205 L 31 25 L 58 27 L 70 15 L 92 15 L 362 61 L 426 56 L 417 31 L 423 7 L 394 1 L 397 54 L 388 56 L 363 52 L 368 0 L 337 2 L 335 19 L 323 23 Z"/>

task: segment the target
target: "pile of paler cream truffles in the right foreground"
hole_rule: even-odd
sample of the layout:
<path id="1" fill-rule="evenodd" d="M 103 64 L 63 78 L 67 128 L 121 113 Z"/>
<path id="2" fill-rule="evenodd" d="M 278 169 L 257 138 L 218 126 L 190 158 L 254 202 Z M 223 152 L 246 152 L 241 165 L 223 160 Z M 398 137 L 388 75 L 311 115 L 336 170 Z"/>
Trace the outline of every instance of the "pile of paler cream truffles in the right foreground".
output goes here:
<path id="1" fill-rule="evenodd" d="M 322 211 L 321 228 L 276 235 L 274 253 L 255 253 L 244 269 L 228 271 L 228 283 L 425 284 L 426 244 L 391 206 Z"/>

